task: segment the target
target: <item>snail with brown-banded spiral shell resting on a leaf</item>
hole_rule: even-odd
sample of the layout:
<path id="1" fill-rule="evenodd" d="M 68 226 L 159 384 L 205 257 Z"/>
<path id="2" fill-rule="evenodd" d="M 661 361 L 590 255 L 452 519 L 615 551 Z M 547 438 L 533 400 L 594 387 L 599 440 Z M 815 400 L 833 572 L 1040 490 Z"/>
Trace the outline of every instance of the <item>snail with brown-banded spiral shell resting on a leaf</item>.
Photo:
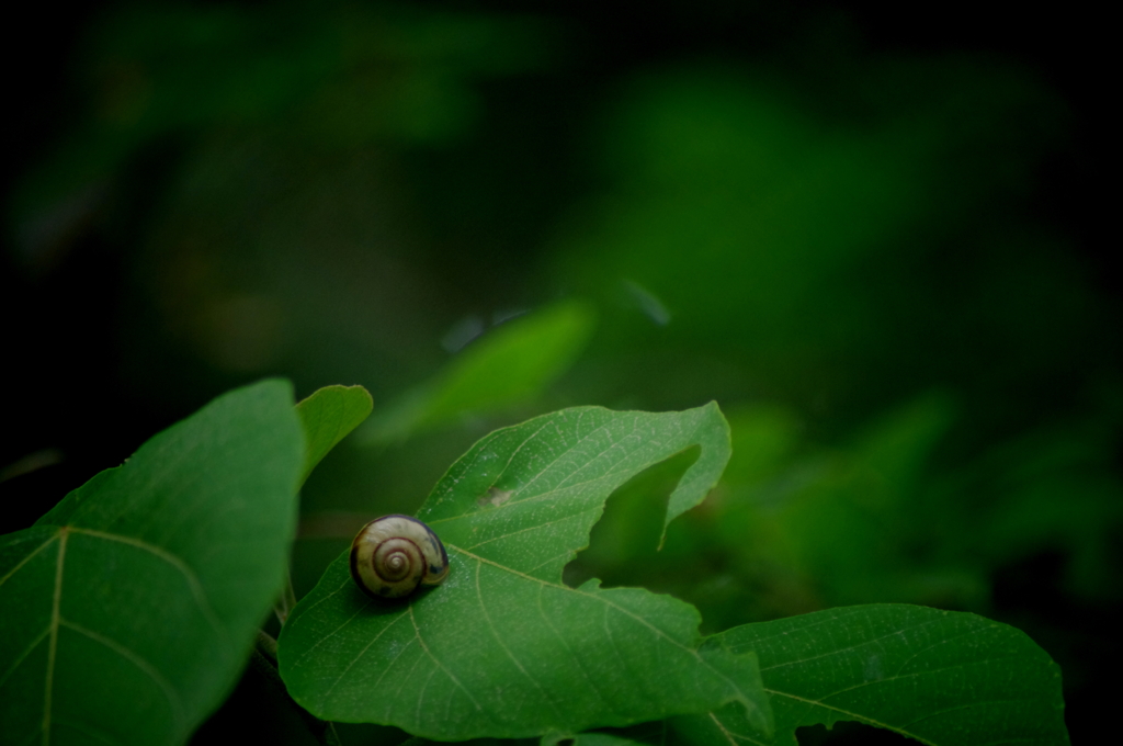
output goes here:
<path id="1" fill-rule="evenodd" d="M 396 599 L 448 576 L 445 545 L 409 516 L 375 518 L 351 542 L 351 577 L 374 599 Z"/>

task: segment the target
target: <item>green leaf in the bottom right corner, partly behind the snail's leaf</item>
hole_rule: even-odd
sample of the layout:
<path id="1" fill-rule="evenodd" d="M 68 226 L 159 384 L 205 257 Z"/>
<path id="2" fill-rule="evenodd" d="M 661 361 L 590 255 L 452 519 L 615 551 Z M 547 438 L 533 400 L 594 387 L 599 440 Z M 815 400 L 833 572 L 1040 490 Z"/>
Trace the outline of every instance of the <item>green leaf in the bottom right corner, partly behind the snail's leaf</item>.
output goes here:
<path id="1" fill-rule="evenodd" d="M 700 746 L 794 746 L 796 728 L 839 720 L 931 746 L 1068 743 L 1060 668 L 1024 633 L 971 613 L 846 607 L 714 638 L 759 656 L 776 736 L 729 707 L 672 720 Z"/>

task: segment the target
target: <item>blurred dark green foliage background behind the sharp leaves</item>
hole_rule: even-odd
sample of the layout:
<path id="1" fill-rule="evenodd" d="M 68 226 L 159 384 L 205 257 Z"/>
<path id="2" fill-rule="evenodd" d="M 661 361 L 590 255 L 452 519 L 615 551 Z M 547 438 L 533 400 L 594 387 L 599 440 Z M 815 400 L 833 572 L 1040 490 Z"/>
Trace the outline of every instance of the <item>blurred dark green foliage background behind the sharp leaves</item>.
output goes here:
<path id="1" fill-rule="evenodd" d="M 1090 740 L 1123 627 L 1106 24 L 998 10 L 27 11 L 6 53 L 3 530 L 232 386 L 360 383 L 375 416 L 302 495 L 301 594 L 494 427 L 716 400 L 721 485 L 657 552 L 693 454 L 638 477 L 568 581 L 673 593 L 704 631 L 983 613 L 1060 663 Z M 270 707 L 245 685 L 208 728 L 301 743 Z"/>

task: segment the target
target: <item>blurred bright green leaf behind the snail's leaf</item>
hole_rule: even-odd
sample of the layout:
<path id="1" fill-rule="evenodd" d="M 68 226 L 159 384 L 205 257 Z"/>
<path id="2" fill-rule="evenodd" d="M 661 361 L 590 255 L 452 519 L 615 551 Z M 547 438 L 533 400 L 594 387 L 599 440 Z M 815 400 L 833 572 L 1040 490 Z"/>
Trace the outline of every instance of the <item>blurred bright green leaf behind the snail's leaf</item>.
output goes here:
<path id="1" fill-rule="evenodd" d="M 533 399 L 573 365 L 594 320 L 587 303 L 566 301 L 508 321 L 471 345 L 435 379 L 376 412 L 363 440 L 398 440 L 469 412 L 495 411 Z"/>

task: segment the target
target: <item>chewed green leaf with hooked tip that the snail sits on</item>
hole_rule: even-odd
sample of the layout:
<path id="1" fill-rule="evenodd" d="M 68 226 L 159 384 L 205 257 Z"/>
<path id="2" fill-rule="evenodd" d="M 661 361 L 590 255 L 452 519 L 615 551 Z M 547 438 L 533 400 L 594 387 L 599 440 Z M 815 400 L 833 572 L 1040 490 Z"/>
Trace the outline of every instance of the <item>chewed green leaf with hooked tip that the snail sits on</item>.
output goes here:
<path id="1" fill-rule="evenodd" d="M 562 583 L 609 494 L 692 446 L 701 453 L 670 495 L 667 521 L 701 502 L 729 460 L 716 404 L 582 407 L 492 433 L 418 513 L 448 549 L 445 584 L 374 601 L 341 555 L 279 640 L 290 693 L 325 719 L 442 740 L 576 733 L 728 702 L 768 730 L 756 657 L 703 644 L 693 607 L 596 580 Z"/>

